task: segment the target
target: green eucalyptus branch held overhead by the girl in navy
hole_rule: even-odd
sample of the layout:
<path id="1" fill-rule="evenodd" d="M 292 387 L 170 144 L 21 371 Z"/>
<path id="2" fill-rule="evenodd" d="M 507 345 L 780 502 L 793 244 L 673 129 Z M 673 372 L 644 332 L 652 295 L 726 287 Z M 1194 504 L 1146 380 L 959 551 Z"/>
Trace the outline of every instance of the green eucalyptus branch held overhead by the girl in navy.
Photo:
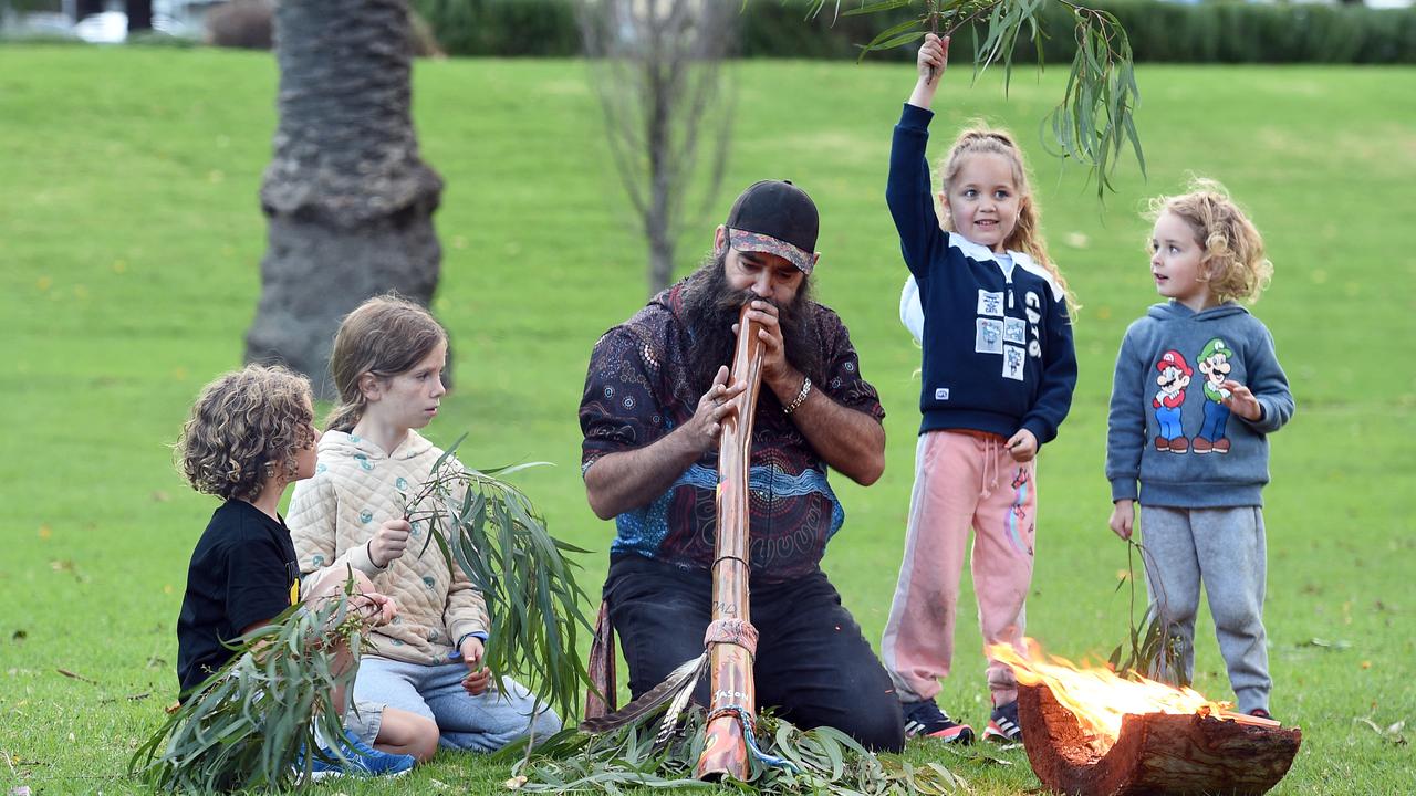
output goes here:
<path id="1" fill-rule="evenodd" d="M 1068 7 L 1075 21 L 1076 54 L 1068 76 L 1062 102 L 1042 123 L 1049 133 L 1044 147 L 1063 160 L 1086 163 L 1096 176 L 1097 197 L 1112 188 L 1112 174 L 1121 149 L 1130 144 L 1146 174 L 1146 154 L 1136 132 L 1136 109 L 1140 88 L 1136 85 L 1136 62 L 1126 28 L 1110 11 L 1089 8 L 1073 0 L 925 0 L 925 11 L 916 18 L 881 31 L 861 47 L 861 59 L 869 52 L 912 44 L 926 33 L 939 31 L 946 24 L 944 37 L 987 17 L 984 40 L 974 48 L 974 79 L 990 64 L 1001 61 L 1004 92 L 1012 81 L 1012 51 L 1020 37 L 1032 41 L 1042 62 L 1042 6 L 1048 1 Z M 840 14 L 840 0 L 835 10 Z M 826 0 L 811 0 L 810 16 L 821 11 Z M 915 0 L 879 0 L 845 11 L 844 16 L 874 14 L 915 6 Z"/>

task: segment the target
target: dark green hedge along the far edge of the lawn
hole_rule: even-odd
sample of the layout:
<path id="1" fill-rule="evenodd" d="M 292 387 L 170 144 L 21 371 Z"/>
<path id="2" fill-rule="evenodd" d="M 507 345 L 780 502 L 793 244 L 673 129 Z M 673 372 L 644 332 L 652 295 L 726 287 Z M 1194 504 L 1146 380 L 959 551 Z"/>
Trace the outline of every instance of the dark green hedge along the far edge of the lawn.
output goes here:
<path id="1" fill-rule="evenodd" d="M 707 0 L 736 3 L 738 0 Z M 1085 0 L 1083 0 L 1085 1 Z M 581 51 L 573 0 L 413 0 L 418 11 L 453 55 L 576 55 Z M 1416 64 L 1416 8 L 1364 6 L 1201 4 L 1157 0 L 1095 0 L 1116 14 L 1131 37 L 1137 61 L 1197 64 Z M 746 58 L 855 58 L 860 45 L 903 21 L 909 11 L 840 17 L 828 1 L 806 17 L 804 0 L 748 0 L 738 18 L 738 54 Z M 841 8 L 858 7 L 843 0 Z M 922 3 L 916 3 L 922 6 Z M 918 13 L 918 11 L 915 11 Z M 1048 62 L 1070 61 L 1070 11 L 1049 3 L 1042 54 Z M 983 31 L 978 31 L 981 38 Z M 970 45 L 966 33 L 956 47 Z M 869 58 L 915 58 L 913 47 Z M 1020 44 L 1017 59 L 1034 57 Z"/>

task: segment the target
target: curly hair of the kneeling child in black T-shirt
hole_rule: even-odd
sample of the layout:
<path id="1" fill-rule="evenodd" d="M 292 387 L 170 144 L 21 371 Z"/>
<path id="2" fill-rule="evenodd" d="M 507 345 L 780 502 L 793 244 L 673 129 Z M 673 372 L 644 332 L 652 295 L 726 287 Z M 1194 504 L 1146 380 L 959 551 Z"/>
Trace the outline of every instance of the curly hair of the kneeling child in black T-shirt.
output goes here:
<path id="1" fill-rule="evenodd" d="M 201 390 L 174 446 L 193 489 L 255 500 L 266 480 L 295 479 L 296 453 L 314 445 L 310 381 L 283 367 L 246 365 Z"/>

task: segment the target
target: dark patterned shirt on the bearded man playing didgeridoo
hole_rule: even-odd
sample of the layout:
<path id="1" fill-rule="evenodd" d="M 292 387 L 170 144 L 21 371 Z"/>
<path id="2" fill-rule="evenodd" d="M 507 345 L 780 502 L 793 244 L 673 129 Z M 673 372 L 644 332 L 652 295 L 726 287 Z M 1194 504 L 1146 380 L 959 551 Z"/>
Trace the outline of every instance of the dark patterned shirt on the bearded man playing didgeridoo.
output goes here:
<path id="1" fill-rule="evenodd" d="M 692 418 L 692 334 L 680 282 L 600 337 L 581 398 L 582 472 L 600 456 L 653 443 Z M 820 346 L 817 388 L 848 409 L 884 419 L 875 388 L 861 377 L 850 333 L 830 309 L 809 303 Z M 726 364 L 726 363 L 725 363 Z M 694 462 L 664 494 L 615 518 L 612 554 L 637 554 L 685 569 L 712 565 L 718 453 Z M 749 564 L 755 579 L 779 582 L 814 571 L 845 520 L 826 463 L 769 390 L 758 399 L 748 474 Z"/>

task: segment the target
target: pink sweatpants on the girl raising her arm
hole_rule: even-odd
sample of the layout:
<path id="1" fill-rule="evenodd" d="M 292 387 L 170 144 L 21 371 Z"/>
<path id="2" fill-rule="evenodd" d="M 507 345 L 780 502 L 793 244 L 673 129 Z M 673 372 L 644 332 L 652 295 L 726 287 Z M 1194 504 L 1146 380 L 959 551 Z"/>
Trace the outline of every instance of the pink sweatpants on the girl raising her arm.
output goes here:
<path id="1" fill-rule="evenodd" d="M 1022 646 L 1024 602 L 1032 584 L 1037 459 L 1014 462 L 1004 439 L 952 431 L 920 435 L 909 500 L 905 559 L 881 654 L 901 701 L 930 700 L 954 656 L 954 613 L 969 528 L 973 579 L 986 644 Z M 994 705 L 1018 698 L 1003 663 L 988 661 Z"/>

